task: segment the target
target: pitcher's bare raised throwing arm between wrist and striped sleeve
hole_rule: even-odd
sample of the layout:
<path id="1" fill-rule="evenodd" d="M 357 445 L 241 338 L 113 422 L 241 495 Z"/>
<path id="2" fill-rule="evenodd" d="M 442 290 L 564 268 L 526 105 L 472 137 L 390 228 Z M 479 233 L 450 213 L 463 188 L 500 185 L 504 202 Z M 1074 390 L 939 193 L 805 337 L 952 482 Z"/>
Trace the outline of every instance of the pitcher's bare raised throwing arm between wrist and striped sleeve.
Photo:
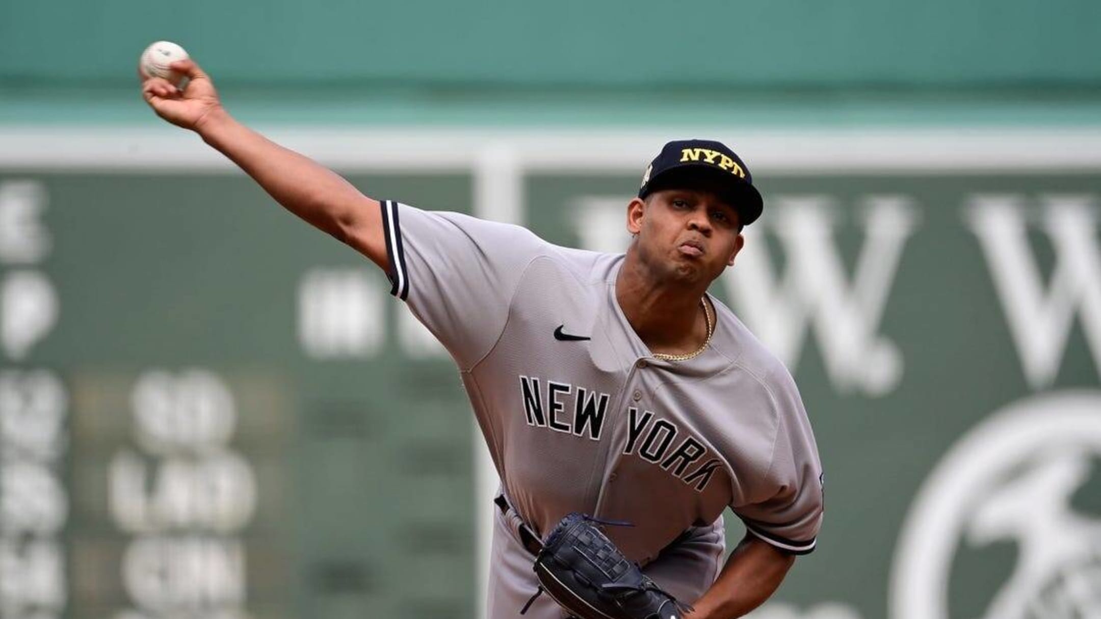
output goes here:
<path id="1" fill-rule="evenodd" d="M 378 203 L 363 196 L 339 174 L 272 142 L 221 109 L 203 118 L 196 124 L 196 132 L 284 208 L 363 251 L 375 262 L 382 260 L 379 265 L 386 268 L 384 248 L 358 247 L 364 242 L 364 228 L 381 226 Z M 379 237 L 381 241 L 381 234 Z"/>

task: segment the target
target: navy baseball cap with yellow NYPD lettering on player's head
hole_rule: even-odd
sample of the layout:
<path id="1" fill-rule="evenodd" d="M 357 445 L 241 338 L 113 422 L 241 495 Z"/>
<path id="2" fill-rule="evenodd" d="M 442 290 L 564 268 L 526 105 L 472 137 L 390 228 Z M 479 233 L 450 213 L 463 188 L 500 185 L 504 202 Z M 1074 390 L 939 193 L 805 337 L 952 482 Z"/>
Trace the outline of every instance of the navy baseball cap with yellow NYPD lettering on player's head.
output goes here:
<path id="1" fill-rule="evenodd" d="M 665 144 L 642 176 L 639 197 L 662 189 L 691 188 L 701 177 L 718 181 L 723 199 L 738 211 L 743 226 L 756 221 L 764 210 L 761 193 L 745 162 L 722 142 L 713 140 L 675 140 Z"/>

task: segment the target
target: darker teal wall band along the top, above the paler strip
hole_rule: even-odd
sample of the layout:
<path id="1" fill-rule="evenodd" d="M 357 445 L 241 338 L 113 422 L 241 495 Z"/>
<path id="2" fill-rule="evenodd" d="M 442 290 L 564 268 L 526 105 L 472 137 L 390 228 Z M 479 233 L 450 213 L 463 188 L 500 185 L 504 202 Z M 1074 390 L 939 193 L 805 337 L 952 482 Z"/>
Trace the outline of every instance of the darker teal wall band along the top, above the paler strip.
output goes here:
<path id="1" fill-rule="evenodd" d="M 0 75 L 123 80 L 155 39 L 254 84 L 1097 87 L 1101 4 L 6 2 Z"/>

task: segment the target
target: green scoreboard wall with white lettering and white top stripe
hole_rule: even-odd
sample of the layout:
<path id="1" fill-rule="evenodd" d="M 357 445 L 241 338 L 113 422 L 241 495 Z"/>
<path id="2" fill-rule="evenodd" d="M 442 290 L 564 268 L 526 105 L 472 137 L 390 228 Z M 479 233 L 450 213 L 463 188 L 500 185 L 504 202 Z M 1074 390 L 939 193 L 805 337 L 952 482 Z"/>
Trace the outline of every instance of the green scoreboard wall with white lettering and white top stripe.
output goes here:
<path id="1" fill-rule="evenodd" d="M 281 139 L 615 250 L 663 135 Z M 3 617 L 477 617 L 492 488 L 384 276 L 186 135 L 2 137 Z M 1101 139 L 719 138 L 766 210 L 712 292 L 794 372 L 826 470 L 818 549 L 755 617 L 1094 616 Z"/>

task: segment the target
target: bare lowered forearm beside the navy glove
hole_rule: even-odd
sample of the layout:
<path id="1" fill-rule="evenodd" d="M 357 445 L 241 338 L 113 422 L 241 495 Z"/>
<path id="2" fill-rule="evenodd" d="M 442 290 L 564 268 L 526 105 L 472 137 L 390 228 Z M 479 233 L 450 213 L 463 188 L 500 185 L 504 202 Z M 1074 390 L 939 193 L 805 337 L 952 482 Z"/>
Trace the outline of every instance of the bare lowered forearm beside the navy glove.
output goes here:
<path id="1" fill-rule="evenodd" d="M 746 535 L 686 619 L 733 619 L 748 613 L 772 596 L 794 562 L 794 556 Z"/>

